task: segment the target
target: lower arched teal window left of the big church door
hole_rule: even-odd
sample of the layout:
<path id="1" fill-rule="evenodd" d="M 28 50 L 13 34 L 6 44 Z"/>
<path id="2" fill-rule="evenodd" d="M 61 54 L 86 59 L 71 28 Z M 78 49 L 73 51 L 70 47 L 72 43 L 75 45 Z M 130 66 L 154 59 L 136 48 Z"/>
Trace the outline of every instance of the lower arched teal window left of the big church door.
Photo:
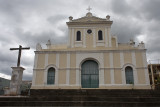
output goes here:
<path id="1" fill-rule="evenodd" d="M 47 84 L 54 84 L 54 83 L 55 83 L 55 69 L 51 67 L 48 69 Z"/>

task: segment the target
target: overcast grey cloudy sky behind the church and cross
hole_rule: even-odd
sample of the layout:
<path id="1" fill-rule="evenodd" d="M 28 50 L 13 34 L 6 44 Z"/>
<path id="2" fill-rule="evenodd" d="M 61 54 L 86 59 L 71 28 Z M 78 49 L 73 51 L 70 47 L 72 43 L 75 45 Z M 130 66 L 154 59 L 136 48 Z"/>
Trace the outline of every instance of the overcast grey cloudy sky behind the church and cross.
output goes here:
<path id="1" fill-rule="evenodd" d="M 147 60 L 160 59 L 160 0 L 0 0 L 0 77 L 10 79 L 18 51 L 9 49 L 22 45 L 31 47 L 21 60 L 23 80 L 31 80 L 36 44 L 66 43 L 68 17 L 85 16 L 89 5 L 93 15 L 111 16 L 119 43 L 144 41 Z"/>

